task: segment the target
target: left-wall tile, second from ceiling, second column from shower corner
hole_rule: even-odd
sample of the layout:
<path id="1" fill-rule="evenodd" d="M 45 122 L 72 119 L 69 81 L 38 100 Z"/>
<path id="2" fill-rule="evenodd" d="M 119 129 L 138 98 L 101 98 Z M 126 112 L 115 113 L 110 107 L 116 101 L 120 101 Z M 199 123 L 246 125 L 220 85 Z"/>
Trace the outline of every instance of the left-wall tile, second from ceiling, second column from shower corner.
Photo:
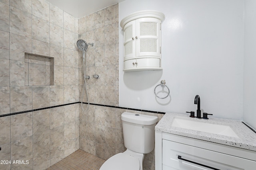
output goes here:
<path id="1" fill-rule="evenodd" d="M 50 43 L 63 47 L 63 27 L 50 23 Z"/>

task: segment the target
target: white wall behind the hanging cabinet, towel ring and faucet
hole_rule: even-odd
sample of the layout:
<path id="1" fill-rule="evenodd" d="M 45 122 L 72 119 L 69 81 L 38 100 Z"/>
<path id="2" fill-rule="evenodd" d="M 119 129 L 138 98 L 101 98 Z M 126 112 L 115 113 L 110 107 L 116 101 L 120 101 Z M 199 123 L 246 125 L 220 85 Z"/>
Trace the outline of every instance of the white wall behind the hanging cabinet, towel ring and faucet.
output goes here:
<path id="1" fill-rule="evenodd" d="M 165 14 L 162 23 L 162 71 L 123 72 L 123 32 L 119 30 L 120 104 L 153 111 L 196 111 L 242 120 L 243 0 L 126 0 L 119 21 L 140 10 Z M 170 96 L 158 99 L 162 79 Z M 159 91 L 157 89 L 157 91 Z"/>

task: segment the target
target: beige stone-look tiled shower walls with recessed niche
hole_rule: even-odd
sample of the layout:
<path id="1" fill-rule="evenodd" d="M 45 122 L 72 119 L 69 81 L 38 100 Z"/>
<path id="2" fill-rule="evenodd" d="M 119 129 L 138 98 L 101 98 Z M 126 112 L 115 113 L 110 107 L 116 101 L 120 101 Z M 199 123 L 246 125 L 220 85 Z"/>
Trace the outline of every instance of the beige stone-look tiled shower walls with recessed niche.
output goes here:
<path id="1" fill-rule="evenodd" d="M 80 19 L 45 0 L 0 0 L 0 9 L 0 158 L 29 162 L 0 169 L 46 169 L 78 149 L 105 160 L 123 152 L 118 4 Z M 78 39 L 94 43 L 87 112 Z M 154 151 L 144 164 L 154 169 Z"/>

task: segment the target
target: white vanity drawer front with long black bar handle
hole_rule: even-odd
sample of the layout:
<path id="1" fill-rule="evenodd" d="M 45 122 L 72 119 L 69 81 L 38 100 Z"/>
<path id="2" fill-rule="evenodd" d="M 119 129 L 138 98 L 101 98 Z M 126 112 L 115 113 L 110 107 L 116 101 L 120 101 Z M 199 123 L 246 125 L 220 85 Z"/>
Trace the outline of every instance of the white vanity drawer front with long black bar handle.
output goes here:
<path id="1" fill-rule="evenodd" d="M 252 160 L 164 139 L 162 140 L 162 147 L 163 170 L 212 170 L 212 168 L 219 170 L 252 170 L 256 167 L 256 162 Z M 178 159 L 178 156 L 212 168 Z"/>

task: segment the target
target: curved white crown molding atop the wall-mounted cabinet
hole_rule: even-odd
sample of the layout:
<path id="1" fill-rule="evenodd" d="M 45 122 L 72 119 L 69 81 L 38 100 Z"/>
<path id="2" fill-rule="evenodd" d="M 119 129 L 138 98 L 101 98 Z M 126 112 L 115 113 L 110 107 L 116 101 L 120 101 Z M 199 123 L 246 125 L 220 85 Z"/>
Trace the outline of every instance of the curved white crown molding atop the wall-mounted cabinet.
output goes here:
<path id="1" fill-rule="evenodd" d="M 161 22 L 165 19 L 165 16 L 162 12 L 158 12 L 155 10 L 144 10 L 144 11 L 138 11 L 134 12 L 128 16 L 126 16 L 124 19 L 121 20 L 120 26 L 124 28 L 124 25 L 132 20 L 136 20 L 138 18 L 157 18 L 158 20 L 161 20 Z"/>

